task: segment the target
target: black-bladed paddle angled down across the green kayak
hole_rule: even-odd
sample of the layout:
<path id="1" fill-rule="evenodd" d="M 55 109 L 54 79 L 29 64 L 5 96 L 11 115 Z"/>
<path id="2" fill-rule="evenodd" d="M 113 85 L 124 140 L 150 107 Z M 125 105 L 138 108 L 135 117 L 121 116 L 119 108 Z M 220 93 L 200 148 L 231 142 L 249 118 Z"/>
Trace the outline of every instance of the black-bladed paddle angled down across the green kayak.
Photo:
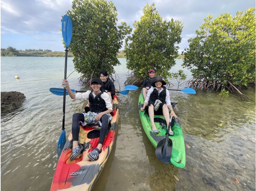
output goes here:
<path id="1" fill-rule="evenodd" d="M 156 146 L 156 157 L 164 164 L 169 164 L 172 156 L 172 140 L 169 138 L 169 131 L 171 128 L 172 116 L 165 134 L 165 138 L 158 142 Z"/>

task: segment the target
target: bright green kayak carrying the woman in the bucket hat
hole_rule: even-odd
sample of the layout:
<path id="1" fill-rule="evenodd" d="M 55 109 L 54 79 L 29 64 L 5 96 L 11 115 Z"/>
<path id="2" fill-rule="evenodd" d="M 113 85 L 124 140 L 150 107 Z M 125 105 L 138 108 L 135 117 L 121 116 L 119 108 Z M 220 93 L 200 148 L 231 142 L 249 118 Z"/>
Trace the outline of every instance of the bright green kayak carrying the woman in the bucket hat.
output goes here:
<path id="1" fill-rule="evenodd" d="M 140 110 L 140 108 L 143 107 L 143 103 L 144 103 L 144 97 L 141 91 L 139 96 L 140 120 L 149 141 L 156 148 L 157 143 L 165 138 L 166 127 L 168 125 L 166 124 L 166 121 L 164 120 L 163 115 L 155 115 L 154 123 L 156 125 L 156 128 L 161 133 L 154 134 L 153 131 L 151 130 L 151 122 L 147 112 L 145 110 L 144 111 Z M 172 108 L 174 108 L 174 106 L 178 102 L 171 102 L 171 103 L 172 103 Z M 175 119 L 175 118 L 172 119 L 171 128 L 174 134 L 173 136 L 169 136 L 169 138 L 172 140 L 172 155 L 171 155 L 170 163 L 178 168 L 184 168 L 186 165 L 185 144 L 184 144 L 184 138 L 182 134 L 182 127 L 178 119 Z"/>

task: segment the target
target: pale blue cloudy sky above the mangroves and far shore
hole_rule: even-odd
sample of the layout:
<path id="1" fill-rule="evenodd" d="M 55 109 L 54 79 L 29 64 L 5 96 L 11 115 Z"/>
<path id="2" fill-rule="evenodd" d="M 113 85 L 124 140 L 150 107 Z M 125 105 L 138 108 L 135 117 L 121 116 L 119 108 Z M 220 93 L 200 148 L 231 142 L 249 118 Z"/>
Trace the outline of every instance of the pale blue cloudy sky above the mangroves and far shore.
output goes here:
<path id="1" fill-rule="evenodd" d="M 156 11 L 164 20 L 183 23 L 181 53 L 188 47 L 188 39 L 204 23 L 204 17 L 213 19 L 225 12 L 232 16 L 237 11 L 255 7 L 255 0 L 113 0 L 117 9 L 117 25 L 125 21 L 132 28 L 143 15 L 142 8 L 155 3 Z M 71 10 L 72 0 L 1 0 L 1 48 L 12 46 L 17 50 L 50 49 L 64 51 L 61 16 Z M 121 49 L 124 49 L 122 47 Z"/>

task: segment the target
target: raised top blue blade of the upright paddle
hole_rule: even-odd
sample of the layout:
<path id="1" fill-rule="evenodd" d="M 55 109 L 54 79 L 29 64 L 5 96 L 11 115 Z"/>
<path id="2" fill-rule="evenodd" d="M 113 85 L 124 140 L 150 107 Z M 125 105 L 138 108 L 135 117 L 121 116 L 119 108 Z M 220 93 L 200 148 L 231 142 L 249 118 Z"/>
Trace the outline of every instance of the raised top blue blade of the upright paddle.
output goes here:
<path id="1" fill-rule="evenodd" d="M 68 47 L 72 38 L 72 21 L 68 15 L 64 15 L 62 18 L 61 31 L 63 40 Z"/>

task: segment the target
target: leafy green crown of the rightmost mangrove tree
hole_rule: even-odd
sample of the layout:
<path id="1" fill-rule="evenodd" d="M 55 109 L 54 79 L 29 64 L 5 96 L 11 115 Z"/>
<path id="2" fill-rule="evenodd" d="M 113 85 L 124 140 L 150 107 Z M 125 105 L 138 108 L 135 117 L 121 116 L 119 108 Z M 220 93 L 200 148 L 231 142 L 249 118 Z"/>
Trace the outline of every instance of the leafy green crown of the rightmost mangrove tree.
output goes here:
<path id="1" fill-rule="evenodd" d="M 209 15 L 204 21 L 184 52 L 183 66 L 194 77 L 191 85 L 204 90 L 223 85 L 234 92 L 235 86 L 255 82 L 255 8 L 235 17 L 224 13 L 212 20 Z"/>

